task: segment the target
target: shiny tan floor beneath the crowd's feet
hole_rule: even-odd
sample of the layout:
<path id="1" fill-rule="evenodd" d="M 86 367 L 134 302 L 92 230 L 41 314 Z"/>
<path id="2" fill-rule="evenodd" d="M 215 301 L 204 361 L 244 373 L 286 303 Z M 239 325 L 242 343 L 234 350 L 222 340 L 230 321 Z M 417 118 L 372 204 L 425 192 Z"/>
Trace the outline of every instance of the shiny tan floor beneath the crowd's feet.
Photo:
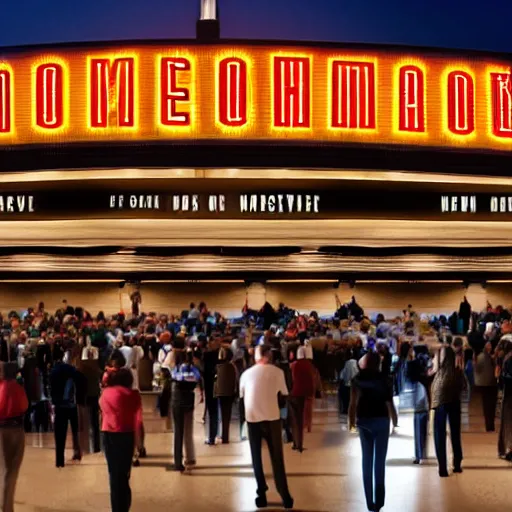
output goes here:
<path id="1" fill-rule="evenodd" d="M 497 459 L 496 435 L 482 432 L 480 418 L 472 416 L 470 423 L 463 439 L 464 473 L 440 479 L 435 460 L 425 466 L 411 464 L 411 417 L 400 418 L 399 432 L 390 441 L 385 511 L 512 510 L 512 465 Z M 149 457 L 132 472 L 133 511 L 255 510 L 249 444 L 238 441 L 238 429 L 233 425 L 232 444 L 204 446 L 203 426 L 196 423 L 196 427 L 198 467 L 192 474 L 166 471 L 171 434 L 147 436 Z M 109 510 L 108 475 L 102 455 L 89 455 L 81 465 L 57 470 L 51 438 L 31 437 L 27 443 L 18 483 L 17 512 Z M 36 447 L 38 444 L 47 447 Z M 333 406 L 315 412 L 314 431 L 306 434 L 306 447 L 303 454 L 292 452 L 289 445 L 285 447 L 296 510 L 366 511 L 359 440 L 340 424 Z M 265 463 L 270 480 L 267 457 Z M 279 507 L 279 499 L 273 482 L 269 483 L 268 497 L 273 503 L 270 510 L 274 510 Z"/>

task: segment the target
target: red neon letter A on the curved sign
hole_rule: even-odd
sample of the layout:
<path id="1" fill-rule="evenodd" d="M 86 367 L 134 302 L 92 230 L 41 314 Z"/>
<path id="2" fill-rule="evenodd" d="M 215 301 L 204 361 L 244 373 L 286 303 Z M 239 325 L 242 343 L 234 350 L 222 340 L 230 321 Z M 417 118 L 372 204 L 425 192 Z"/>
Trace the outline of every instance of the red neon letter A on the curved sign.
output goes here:
<path id="1" fill-rule="evenodd" d="M 417 66 L 400 68 L 400 122 L 403 132 L 425 131 L 425 77 Z"/>

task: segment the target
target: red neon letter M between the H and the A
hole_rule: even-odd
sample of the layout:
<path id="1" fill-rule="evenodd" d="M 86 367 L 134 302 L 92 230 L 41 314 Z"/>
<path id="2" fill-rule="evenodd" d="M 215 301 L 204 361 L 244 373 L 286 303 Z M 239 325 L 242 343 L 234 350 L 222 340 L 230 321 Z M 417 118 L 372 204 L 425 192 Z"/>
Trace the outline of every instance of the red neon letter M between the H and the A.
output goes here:
<path id="1" fill-rule="evenodd" d="M 332 63 L 333 128 L 375 128 L 375 66 L 371 62 Z"/>

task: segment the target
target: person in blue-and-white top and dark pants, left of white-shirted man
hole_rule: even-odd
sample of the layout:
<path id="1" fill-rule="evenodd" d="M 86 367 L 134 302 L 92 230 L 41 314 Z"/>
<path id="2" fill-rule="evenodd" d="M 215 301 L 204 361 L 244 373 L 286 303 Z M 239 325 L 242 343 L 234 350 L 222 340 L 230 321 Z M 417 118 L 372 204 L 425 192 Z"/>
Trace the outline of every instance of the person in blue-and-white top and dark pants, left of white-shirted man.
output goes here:
<path id="1" fill-rule="evenodd" d="M 195 389 L 201 380 L 201 372 L 193 364 L 192 352 L 175 350 L 175 366 L 171 372 L 171 407 L 174 419 L 174 466 L 175 471 L 185 471 L 196 465 L 194 448 Z M 185 464 L 183 464 L 185 444 Z"/>

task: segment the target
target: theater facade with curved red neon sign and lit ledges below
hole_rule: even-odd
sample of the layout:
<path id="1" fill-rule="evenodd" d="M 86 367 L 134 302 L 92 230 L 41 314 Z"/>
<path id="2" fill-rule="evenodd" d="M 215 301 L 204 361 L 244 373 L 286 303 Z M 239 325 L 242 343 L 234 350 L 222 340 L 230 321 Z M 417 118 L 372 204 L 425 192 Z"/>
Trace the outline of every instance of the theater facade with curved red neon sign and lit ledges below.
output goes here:
<path id="1" fill-rule="evenodd" d="M 507 280 L 511 56 L 0 48 L 0 278 Z"/>

